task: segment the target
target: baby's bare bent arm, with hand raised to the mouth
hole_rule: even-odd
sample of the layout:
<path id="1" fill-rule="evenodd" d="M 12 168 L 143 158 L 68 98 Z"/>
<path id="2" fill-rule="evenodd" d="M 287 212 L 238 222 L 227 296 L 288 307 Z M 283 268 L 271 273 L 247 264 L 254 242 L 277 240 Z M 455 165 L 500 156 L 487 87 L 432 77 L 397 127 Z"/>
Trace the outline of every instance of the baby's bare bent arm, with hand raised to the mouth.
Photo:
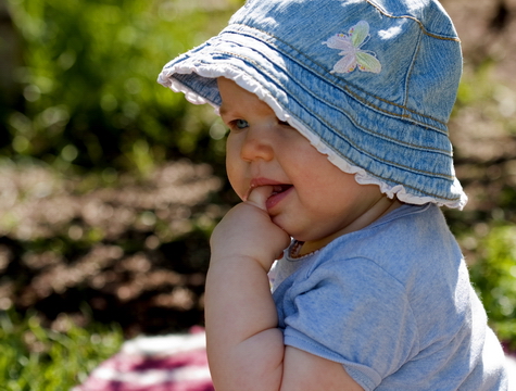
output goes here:
<path id="1" fill-rule="evenodd" d="M 289 236 L 252 191 L 215 228 L 206 280 L 206 338 L 217 391 L 362 390 L 342 365 L 285 346 L 267 272 Z"/>

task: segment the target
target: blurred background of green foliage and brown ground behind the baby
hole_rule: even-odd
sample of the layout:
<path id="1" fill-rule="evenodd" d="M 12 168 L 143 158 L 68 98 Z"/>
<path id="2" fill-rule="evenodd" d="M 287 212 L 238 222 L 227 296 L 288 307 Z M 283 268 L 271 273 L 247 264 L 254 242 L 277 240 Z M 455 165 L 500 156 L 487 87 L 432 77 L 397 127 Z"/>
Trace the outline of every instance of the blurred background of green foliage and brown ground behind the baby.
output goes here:
<path id="1" fill-rule="evenodd" d="M 67 390 L 124 339 L 202 326 L 207 239 L 237 202 L 226 130 L 210 106 L 155 79 L 242 2 L 0 0 L 9 390 Z M 469 195 L 465 211 L 445 213 L 491 326 L 514 350 L 516 0 L 442 3 L 465 54 L 450 131 Z"/>

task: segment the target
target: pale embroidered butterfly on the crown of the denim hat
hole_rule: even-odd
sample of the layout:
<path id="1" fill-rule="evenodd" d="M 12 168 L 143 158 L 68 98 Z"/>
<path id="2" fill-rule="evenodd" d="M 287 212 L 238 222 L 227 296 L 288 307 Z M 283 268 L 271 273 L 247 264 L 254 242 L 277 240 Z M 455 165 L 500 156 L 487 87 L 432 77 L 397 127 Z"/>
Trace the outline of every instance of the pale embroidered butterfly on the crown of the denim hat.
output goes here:
<path id="1" fill-rule="evenodd" d="M 348 34 L 336 34 L 323 42 L 330 49 L 340 49 L 341 60 L 333 65 L 330 73 L 351 73 L 356 66 L 362 72 L 380 73 L 381 63 L 372 51 L 362 50 L 369 38 L 369 24 L 361 21 L 350 28 Z"/>

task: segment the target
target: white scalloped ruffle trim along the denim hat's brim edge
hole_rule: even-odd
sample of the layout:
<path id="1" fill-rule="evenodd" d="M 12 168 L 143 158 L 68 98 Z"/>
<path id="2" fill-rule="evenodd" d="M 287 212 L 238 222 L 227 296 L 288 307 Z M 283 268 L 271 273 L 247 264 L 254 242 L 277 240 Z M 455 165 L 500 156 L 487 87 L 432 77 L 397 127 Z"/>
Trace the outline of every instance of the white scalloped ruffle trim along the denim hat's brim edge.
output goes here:
<path id="1" fill-rule="evenodd" d="M 185 93 L 185 98 L 193 104 L 211 104 L 216 113 L 218 114 L 218 106 L 214 103 L 207 101 L 206 99 L 200 97 L 197 92 L 192 91 L 187 86 L 183 85 L 177 79 L 172 77 L 173 74 L 191 74 L 196 73 L 201 77 L 206 78 L 216 78 L 216 77 L 226 77 L 228 79 L 234 80 L 238 86 L 241 88 L 256 94 L 261 100 L 267 103 L 270 109 L 275 112 L 276 116 L 280 121 L 288 122 L 292 127 L 298 129 L 304 137 L 306 137 L 312 146 L 315 147 L 317 151 L 328 156 L 328 160 L 335 164 L 337 167 L 342 169 L 344 173 L 353 174 L 355 176 L 356 182 L 360 185 L 377 185 L 380 188 L 380 191 L 385 193 L 390 199 L 393 199 L 394 195 L 402 202 L 406 202 L 410 204 L 423 205 L 426 203 L 436 203 L 439 206 L 448 206 L 452 209 L 463 210 L 463 207 L 467 203 L 467 195 L 462 192 L 462 197 L 457 201 L 442 201 L 438 200 L 432 197 L 418 197 L 411 194 L 406 191 L 403 185 L 390 186 L 380 179 L 373 177 L 369 175 L 364 168 L 351 165 L 349 162 L 343 160 L 339 156 L 335 151 L 329 149 L 320 138 L 310 131 L 303 124 L 295 121 L 295 118 L 291 117 L 287 111 L 285 111 L 281 105 L 276 101 L 276 99 L 266 90 L 264 89 L 257 81 L 253 78 L 248 76 L 247 74 L 242 74 L 238 71 L 232 70 L 231 67 L 223 67 L 221 64 L 217 65 L 203 65 L 202 67 L 187 67 L 187 66 L 179 66 L 176 65 L 169 70 L 163 71 L 158 81 L 165 87 L 171 88 L 175 92 L 183 92 Z M 461 185 L 457 180 L 454 184 L 456 187 L 461 188 Z M 461 188 L 462 190 L 462 188 Z"/>

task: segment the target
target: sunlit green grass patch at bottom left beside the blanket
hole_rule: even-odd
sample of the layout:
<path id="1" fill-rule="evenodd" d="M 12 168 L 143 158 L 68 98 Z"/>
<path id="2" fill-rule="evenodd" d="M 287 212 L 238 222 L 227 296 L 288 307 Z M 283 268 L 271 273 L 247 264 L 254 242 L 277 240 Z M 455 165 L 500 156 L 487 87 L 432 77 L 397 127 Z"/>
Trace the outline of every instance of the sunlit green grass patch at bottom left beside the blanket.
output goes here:
<path id="1" fill-rule="evenodd" d="M 0 312 L 0 390 L 70 391 L 121 346 L 115 327 L 77 327 L 61 316 L 45 328 L 35 315 Z"/>

